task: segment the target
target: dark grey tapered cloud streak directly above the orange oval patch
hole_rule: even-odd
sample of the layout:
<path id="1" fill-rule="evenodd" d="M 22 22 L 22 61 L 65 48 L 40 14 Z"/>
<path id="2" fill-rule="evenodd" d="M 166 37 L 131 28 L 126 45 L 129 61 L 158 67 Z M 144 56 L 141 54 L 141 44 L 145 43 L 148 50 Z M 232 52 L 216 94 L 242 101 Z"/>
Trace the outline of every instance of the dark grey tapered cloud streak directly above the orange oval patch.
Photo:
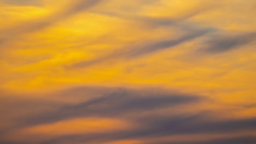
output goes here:
<path id="1" fill-rule="evenodd" d="M 57 111 L 40 113 L 32 117 L 26 117 L 24 122 L 29 125 L 51 123 L 74 117 L 117 117 L 122 113 L 131 111 L 148 111 L 181 104 L 199 101 L 196 95 L 175 93 L 150 93 L 148 89 L 142 94 L 121 89 L 117 92 L 93 98 L 77 105 L 63 106 Z"/>

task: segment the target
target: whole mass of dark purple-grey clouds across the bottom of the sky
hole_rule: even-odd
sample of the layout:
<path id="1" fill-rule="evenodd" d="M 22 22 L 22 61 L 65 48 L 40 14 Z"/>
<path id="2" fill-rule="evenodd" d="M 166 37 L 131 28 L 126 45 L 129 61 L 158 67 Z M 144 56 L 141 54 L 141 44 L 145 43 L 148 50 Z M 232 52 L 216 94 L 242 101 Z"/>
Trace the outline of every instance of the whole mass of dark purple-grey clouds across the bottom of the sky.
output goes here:
<path id="1" fill-rule="evenodd" d="M 98 95 L 99 93 L 96 94 L 96 92 L 100 92 L 101 89 L 103 93 L 100 95 Z M 62 143 L 63 141 L 66 143 L 89 143 L 124 139 L 138 140 L 142 138 L 147 140 L 161 136 L 174 135 L 219 134 L 256 129 L 254 126 L 256 125 L 255 118 L 218 119 L 212 111 L 198 110 L 195 113 L 179 113 L 172 115 L 171 113 L 176 111 L 177 107 L 188 104 L 198 104 L 209 99 L 193 94 L 173 93 L 164 89 L 79 87 L 48 96 L 57 96 L 58 99 L 77 99 L 79 97 L 87 97 L 89 99 L 75 104 L 63 103 L 57 105 L 56 103 L 46 103 L 44 100 L 32 100 L 31 102 L 23 100 L 22 103 L 26 107 L 22 105 L 13 107 L 16 103 L 21 103 L 20 100 L 11 102 L 13 103 L 12 105 L 7 103 L 4 107 L 13 107 L 11 111 L 20 108 L 26 111 L 27 109 L 35 107 L 35 105 L 40 104 L 41 106 L 38 105 L 39 108 L 36 111 L 27 110 L 34 112 L 27 113 L 26 115 L 24 115 L 24 111 L 20 111 L 19 113 L 23 113 L 22 115 L 13 117 L 14 120 L 19 119 L 19 122 L 16 122 L 12 127 L 5 127 L 5 133 L 1 133 L 1 137 L 6 137 L 6 133 L 19 135 L 19 133 L 14 133 L 14 131 L 21 130 L 20 133 L 23 135 L 21 136 L 25 137 L 23 139 L 27 141 L 27 143 L 30 143 L 29 141 L 38 141 L 38 143 Z M 50 109 L 45 109 L 45 107 L 49 106 Z M 166 109 L 168 109 L 168 113 L 160 112 L 160 110 Z M 147 114 L 145 115 L 145 113 Z M 16 115 L 18 114 L 16 113 Z M 79 123 L 82 124 L 83 121 L 80 121 L 81 119 L 88 119 L 90 117 L 95 117 L 98 121 L 101 121 L 101 119 L 120 119 L 118 121 L 124 120 L 132 125 L 139 125 L 139 127 L 104 131 L 104 133 L 90 133 L 90 131 L 87 130 L 86 135 L 82 129 L 73 129 L 74 133 L 66 131 L 65 133 L 53 134 L 54 136 L 50 134 L 49 129 L 53 129 L 51 131 L 55 130 L 56 132 L 59 127 L 68 128 L 72 125 L 71 123 L 77 123 L 78 120 Z M 49 129 L 47 129 L 48 127 Z M 84 128 L 84 126 L 81 126 L 81 128 Z M 112 129 L 110 126 L 108 128 Z M 25 131 L 22 131 L 24 129 Z M 40 135 L 40 131 L 43 131 L 45 134 L 44 136 L 40 136 L 40 139 L 34 139 L 34 136 L 28 138 L 30 135 L 24 136 L 24 134 L 28 134 L 26 131 L 29 129 L 34 130 L 33 135 Z M 96 137 L 101 137 L 101 139 L 99 140 Z M 2 140 L 2 142 L 4 141 L 5 139 Z"/>

